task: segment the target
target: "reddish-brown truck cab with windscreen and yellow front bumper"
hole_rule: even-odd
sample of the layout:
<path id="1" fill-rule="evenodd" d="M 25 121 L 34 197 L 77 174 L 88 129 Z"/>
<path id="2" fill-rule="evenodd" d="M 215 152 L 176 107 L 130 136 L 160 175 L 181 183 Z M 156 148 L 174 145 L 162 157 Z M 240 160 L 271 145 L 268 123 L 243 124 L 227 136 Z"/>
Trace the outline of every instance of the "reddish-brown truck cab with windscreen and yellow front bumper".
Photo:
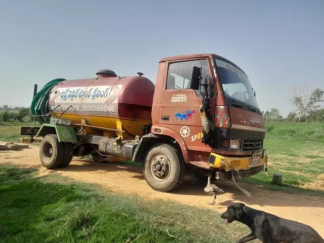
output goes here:
<path id="1" fill-rule="evenodd" d="M 199 78 L 195 68 L 200 69 Z M 204 85 L 210 103 L 207 121 L 200 113 Z M 211 133 L 204 134 L 206 122 Z M 266 163 L 264 121 L 248 76 L 215 54 L 160 59 L 151 132 L 175 138 L 185 163 L 201 168 L 201 176 L 212 170 L 217 179 L 229 179 L 234 170 L 239 179 L 259 173 Z M 208 143 L 203 141 L 206 134 Z M 200 178 L 199 170 L 193 172 Z"/>

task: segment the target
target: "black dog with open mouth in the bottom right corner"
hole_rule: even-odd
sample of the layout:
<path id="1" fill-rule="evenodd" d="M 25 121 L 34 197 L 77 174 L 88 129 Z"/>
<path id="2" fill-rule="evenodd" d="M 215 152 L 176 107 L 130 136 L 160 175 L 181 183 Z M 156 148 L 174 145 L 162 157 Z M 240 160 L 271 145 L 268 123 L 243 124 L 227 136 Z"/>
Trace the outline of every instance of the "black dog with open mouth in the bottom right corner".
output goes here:
<path id="1" fill-rule="evenodd" d="M 308 225 L 282 219 L 249 208 L 245 204 L 238 203 L 229 206 L 221 217 L 226 219 L 226 223 L 237 220 L 251 229 L 251 233 L 239 239 L 237 243 L 253 239 L 259 239 L 263 243 L 324 243 L 324 239 Z"/>

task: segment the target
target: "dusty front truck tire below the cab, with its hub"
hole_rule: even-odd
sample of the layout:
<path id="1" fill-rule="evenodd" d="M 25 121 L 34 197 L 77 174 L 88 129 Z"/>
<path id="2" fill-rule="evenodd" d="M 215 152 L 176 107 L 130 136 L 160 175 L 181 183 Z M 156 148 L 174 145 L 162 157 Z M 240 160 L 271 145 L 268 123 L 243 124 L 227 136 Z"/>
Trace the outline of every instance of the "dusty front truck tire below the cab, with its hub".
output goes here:
<path id="1" fill-rule="evenodd" d="M 185 176 L 182 154 L 169 144 L 152 146 L 144 158 L 143 174 L 147 184 L 156 191 L 176 189 Z"/>

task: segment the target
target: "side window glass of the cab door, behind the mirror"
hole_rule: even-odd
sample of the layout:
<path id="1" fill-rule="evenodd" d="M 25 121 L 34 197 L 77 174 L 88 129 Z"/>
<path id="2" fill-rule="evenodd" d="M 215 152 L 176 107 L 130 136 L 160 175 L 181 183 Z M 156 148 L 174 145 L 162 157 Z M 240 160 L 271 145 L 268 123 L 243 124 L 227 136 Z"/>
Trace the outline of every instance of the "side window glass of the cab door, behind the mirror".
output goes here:
<path id="1" fill-rule="evenodd" d="M 167 90 L 190 89 L 191 75 L 193 67 L 201 67 L 201 84 L 205 83 L 206 77 L 209 78 L 207 59 L 175 62 L 169 64 Z"/>

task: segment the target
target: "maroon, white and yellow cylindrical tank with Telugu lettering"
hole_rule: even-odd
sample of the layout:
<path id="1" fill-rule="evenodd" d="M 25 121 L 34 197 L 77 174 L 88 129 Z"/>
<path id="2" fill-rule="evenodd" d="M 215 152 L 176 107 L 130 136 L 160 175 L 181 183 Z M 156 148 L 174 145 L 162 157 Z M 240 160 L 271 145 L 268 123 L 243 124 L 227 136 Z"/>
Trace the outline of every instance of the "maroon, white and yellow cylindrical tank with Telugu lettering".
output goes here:
<path id="1" fill-rule="evenodd" d="M 121 123 L 128 135 L 143 135 L 143 127 L 151 123 L 154 84 L 143 76 L 97 74 L 97 78 L 57 84 L 48 100 L 52 114 L 59 117 L 71 105 L 61 117 L 70 119 L 74 126 L 84 118 L 93 126 L 89 131 L 96 134 L 113 135 L 115 132 L 108 129 L 117 129 Z"/>

